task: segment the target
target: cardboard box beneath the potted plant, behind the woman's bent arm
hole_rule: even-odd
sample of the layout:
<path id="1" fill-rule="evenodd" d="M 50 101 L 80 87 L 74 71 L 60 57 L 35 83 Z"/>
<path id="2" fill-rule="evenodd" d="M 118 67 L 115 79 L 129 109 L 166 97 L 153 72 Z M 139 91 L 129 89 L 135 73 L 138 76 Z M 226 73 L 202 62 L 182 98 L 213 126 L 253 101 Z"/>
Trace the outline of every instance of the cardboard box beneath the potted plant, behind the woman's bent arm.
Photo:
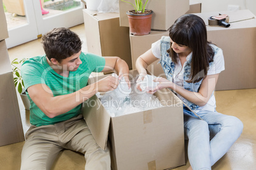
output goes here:
<path id="1" fill-rule="evenodd" d="M 158 41 L 162 36 L 169 36 L 169 31 L 152 31 L 150 34 L 145 36 L 132 36 L 130 35 L 131 41 L 131 52 L 132 52 L 132 69 L 136 69 L 136 60 L 140 55 L 148 51 L 151 48 L 152 43 Z M 147 70 L 155 75 L 166 77 L 162 66 L 157 64 L 158 61 L 153 62 L 148 66 Z"/>

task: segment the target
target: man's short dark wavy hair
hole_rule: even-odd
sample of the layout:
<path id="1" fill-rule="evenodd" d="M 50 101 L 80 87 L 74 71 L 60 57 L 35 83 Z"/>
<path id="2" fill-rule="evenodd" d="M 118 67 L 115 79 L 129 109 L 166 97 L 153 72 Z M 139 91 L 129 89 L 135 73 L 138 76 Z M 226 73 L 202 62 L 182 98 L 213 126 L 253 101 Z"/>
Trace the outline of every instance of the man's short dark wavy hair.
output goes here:
<path id="1" fill-rule="evenodd" d="M 55 28 L 42 37 L 43 49 L 47 58 L 55 58 L 58 62 L 68 58 L 82 49 L 80 37 L 66 28 Z"/>

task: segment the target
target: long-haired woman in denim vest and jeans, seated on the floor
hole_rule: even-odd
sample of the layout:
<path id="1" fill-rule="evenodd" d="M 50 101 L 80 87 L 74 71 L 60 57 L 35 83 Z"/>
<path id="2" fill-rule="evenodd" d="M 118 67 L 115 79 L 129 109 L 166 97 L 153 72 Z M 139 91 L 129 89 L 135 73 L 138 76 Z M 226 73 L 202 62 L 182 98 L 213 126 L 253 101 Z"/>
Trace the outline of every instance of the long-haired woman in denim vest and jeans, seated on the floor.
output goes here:
<path id="1" fill-rule="evenodd" d="M 145 76 L 148 65 L 156 60 L 167 79 L 155 79 L 159 84 L 150 93 L 169 88 L 186 105 L 183 112 L 188 169 L 211 169 L 243 131 L 238 118 L 215 110 L 213 91 L 218 75 L 225 69 L 222 49 L 207 41 L 206 26 L 199 16 L 186 14 L 170 27 L 169 37 L 163 36 L 139 56 L 138 82 Z"/>

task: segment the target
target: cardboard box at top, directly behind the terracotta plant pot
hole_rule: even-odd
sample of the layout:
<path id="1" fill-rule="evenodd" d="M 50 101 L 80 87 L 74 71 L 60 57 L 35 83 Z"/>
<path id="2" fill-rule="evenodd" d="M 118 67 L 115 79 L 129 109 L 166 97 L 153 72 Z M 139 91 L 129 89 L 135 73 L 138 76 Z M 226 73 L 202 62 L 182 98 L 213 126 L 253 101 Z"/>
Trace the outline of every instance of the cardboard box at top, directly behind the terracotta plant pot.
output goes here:
<path id="1" fill-rule="evenodd" d="M 134 4 L 134 0 L 127 0 Z M 148 0 L 146 9 L 153 10 L 152 30 L 167 30 L 174 21 L 189 10 L 189 0 Z M 134 10 L 131 4 L 119 1 L 120 26 L 129 27 L 126 12 Z"/>

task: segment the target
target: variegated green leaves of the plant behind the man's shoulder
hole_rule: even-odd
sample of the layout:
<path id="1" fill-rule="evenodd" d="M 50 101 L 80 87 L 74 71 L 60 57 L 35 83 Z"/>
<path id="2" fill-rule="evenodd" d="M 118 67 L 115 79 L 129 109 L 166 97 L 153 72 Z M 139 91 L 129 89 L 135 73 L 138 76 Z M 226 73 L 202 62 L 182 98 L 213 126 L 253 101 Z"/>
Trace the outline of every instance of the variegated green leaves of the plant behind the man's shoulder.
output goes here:
<path id="1" fill-rule="evenodd" d="M 20 74 L 20 66 L 22 65 L 22 63 L 25 62 L 25 60 L 27 60 L 26 58 L 22 58 L 22 60 L 18 61 L 18 58 L 15 58 L 12 62 L 12 69 L 13 69 L 13 80 L 15 83 L 15 88 L 17 88 L 18 93 L 22 93 L 22 89 L 24 89 L 24 82 L 22 79 L 22 76 Z M 24 92 L 25 93 L 25 92 Z"/>

